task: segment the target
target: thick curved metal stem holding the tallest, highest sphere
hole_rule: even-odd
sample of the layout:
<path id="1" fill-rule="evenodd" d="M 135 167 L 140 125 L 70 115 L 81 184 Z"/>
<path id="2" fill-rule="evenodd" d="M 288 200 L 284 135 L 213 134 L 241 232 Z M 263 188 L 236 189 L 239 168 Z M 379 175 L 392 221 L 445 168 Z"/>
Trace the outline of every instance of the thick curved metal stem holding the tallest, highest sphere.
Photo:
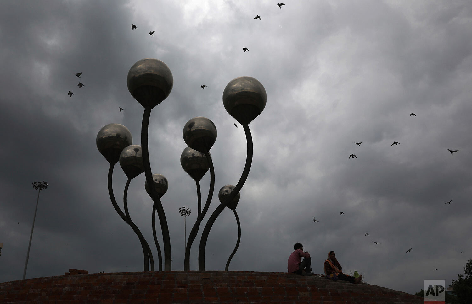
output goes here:
<path id="1" fill-rule="evenodd" d="M 141 149 L 143 151 L 143 165 L 144 174 L 146 176 L 146 182 L 149 185 L 151 192 L 151 198 L 154 202 L 154 207 L 157 210 L 159 216 L 160 229 L 162 230 L 162 241 L 164 243 L 164 271 L 172 270 L 172 259 L 171 259 L 171 248 L 170 248 L 170 236 L 169 226 L 167 225 L 166 214 L 164 208 L 160 202 L 159 195 L 154 188 L 154 181 L 152 180 L 151 163 L 149 161 L 149 148 L 148 148 L 148 128 L 149 118 L 151 117 L 151 107 L 144 108 L 143 113 L 143 124 L 141 125 Z M 154 212 L 153 212 L 154 214 Z M 154 239 L 155 241 L 156 239 Z"/>

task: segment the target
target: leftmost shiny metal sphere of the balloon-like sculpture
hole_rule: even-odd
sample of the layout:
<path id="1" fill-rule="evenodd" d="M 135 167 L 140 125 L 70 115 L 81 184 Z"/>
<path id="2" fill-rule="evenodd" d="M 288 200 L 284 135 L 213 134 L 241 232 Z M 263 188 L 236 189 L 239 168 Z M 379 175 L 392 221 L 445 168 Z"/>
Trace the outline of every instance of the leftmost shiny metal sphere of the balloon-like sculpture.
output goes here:
<path id="1" fill-rule="evenodd" d="M 113 165 L 118 162 L 121 151 L 133 144 L 133 136 L 125 126 L 110 123 L 98 131 L 96 143 L 98 151 Z"/>

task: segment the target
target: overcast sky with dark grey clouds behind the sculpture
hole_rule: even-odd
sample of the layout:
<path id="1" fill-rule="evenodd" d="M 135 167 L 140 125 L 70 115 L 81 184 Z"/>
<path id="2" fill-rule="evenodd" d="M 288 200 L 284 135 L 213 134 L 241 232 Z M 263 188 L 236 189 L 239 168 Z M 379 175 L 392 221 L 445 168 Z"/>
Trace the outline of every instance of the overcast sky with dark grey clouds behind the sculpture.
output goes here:
<path id="1" fill-rule="evenodd" d="M 249 125 L 253 163 L 229 270 L 287 272 L 300 241 L 316 273 L 334 250 L 344 272 L 387 288 L 414 293 L 425 279 L 457 279 L 472 257 L 472 2 L 284 2 L 2 3 L 0 282 L 22 279 L 37 197 L 31 183 L 43 180 L 49 187 L 40 194 L 26 278 L 69 268 L 143 270 L 140 242 L 111 204 L 109 163 L 95 139 L 103 126 L 120 123 L 141 144 L 143 107 L 126 76 L 147 57 L 166 63 L 174 78 L 149 128 L 152 172 L 169 181 L 161 201 L 172 270 L 184 264 L 178 208 L 192 209 L 187 236 L 197 214 L 195 182 L 180 165 L 183 127 L 204 116 L 218 130 L 202 232 L 219 189 L 237 183 L 246 158 L 244 130 L 225 111 L 223 90 L 251 76 L 265 87 L 267 105 Z M 122 210 L 126 179 L 117 164 L 113 189 Z M 144 180 L 131 182 L 128 207 L 157 265 Z M 209 184 L 208 172 L 203 200 Z M 200 235 L 191 270 L 198 270 Z M 208 239 L 206 270 L 225 269 L 236 238 L 226 209 Z M 160 228 L 158 239 L 163 248 Z"/>

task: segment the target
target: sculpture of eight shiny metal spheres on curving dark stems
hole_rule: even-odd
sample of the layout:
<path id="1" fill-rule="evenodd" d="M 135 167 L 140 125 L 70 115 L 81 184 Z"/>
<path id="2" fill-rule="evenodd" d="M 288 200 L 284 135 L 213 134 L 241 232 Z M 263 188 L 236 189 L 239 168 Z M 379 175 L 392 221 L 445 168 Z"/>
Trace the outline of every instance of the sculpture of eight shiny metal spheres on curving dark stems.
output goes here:
<path id="1" fill-rule="evenodd" d="M 165 176 L 160 174 L 152 174 L 152 168 L 149 159 L 148 129 L 152 109 L 169 96 L 174 84 L 174 79 L 169 67 L 165 63 L 158 59 L 144 58 L 131 66 L 126 78 L 126 84 L 130 94 L 144 108 L 141 128 L 141 146 L 133 145 L 131 132 L 125 126 L 116 123 L 109 124 L 101 128 L 96 138 L 96 144 L 100 153 L 110 163 L 108 189 L 113 207 L 118 212 L 119 216 L 121 216 L 123 220 L 125 220 L 126 223 L 133 228 L 141 241 L 144 254 L 144 271 L 148 271 L 149 269 L 149 260 L 151 261 L 151 271 L 153 271 L 154 264 L 151 249 L 149 248 L 146 240 L 144 240 L 143 235 L 139 229 L 131 221 L 131 217 L 129 216 L 127 209 L 127 189 L 129 183 L 133 178 L 144 172 L 144 189 L 150 195 L 153 201 L 152 232 L 159 256 L 159 271 L 162 270 L 162 264 L 164 264 L 165 271 L 171 271 L 172 259 L 169 227 L 162 203 L 160 201 L 162 196 L 168 191 L 169 183 Z M 262 86 L 261 82 L 252 77 L 243 76 L 235 78 L 228 83 L 223 91 L 223 105 L 226 111 L 231 116 L 233 116 L 244 128 L 247 142 L 246 164 L 236 186 L 226 185 L 219 191 L 218 197 L 221 203 L 211 214 L 202 232 L 198 254 L 199 270 L 205 270 L 205 247 L 208 234 L 210 233 L 211 227 L 216 218 L 226 207 L 233 210 L 236 216 L 236 222 L 238 224 L 238 240 L 236 243 L 236 248 L 228 259 L 226 270 L 228 270 L 229 262 L 239 245 L 241 228 L 239 224 L 239 218 L 236 213 L 236 206 L 240 198 L 239 192 L 244 185 L 247 176 L 249 175 L 253 158 L 253 141 L 251 131 L 249 130 L 249 123 L 251 123 L 258 115 L 261 114 L 261 112 L 264 110 L 266 102 L 267 94 L 265 88 Z M 213 196 L 215 171 L 213 168 L 210 149 L 216 141 L 217 129 L 215 124 L 208 118 L 194 117 L 185 123 L 182 135 L 185 144 L 187 144 L 188 147 L 184 149 L 180 156 L 180 164 L 182 165 L 182 168 L 185 170 L 185 172 L 187 172 L 187 174 L 196 182 L 198 197 L 198 216 L 192 231 L 189 234 L 188 242 L 185 244 L 184 270 L 190 270 L 190 249 L 198 233 L 199 226 L 210 207 Z M 126 214 L 123 213 L 118 207 L 113 193 L 113 168 L 118 161 L 124 173 L 128 177 L 124 193 L 124 207 Z M 208 192 L 208 198 L 205 202 L 204 208 L 202 209 L 199 181 L 209 170 L 210 189 Z M 38 186 L 38 188 L 39 187 L 40 186 Z M 160 245 L 156 236 L 156 212 L 159 216 L 160 228 L 162 231 L 164 260 L 162 260 Z M 182 216 L 184 216 L 185 219 L 185 217 L 190 214 L 190 208 L 180 208 L 179 212 Z"/>

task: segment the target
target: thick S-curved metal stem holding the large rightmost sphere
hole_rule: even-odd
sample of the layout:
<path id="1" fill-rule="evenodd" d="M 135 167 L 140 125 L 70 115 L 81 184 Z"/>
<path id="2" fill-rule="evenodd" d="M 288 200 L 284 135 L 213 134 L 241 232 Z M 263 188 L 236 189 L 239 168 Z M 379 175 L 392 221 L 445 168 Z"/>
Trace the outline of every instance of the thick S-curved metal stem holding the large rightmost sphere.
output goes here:
<path id="1" fill-rule="evenodd" d="M 213 211 L 213 214 L 210 216 L 207 224 L 205 225 L 205 228 L 203 229 L 202 239 L 200 240 L 200 248 L 198 250 L 198 270 L 199 271 L 205 270 L 205 247 L 206 247 L 206 242 L 208 240 L 208 234 L 210 234 L 211 226 L 213 226 L 213 224 L 215 223 L 221 211 L 223 211 L 223 209 L 228 206 L 228 203 L 230 203 L 239 193 L 239 191 L 243 187 L 243 184 L 246 182 L 247 176 L 249 175 L 249 170 L 251 169 L 251 163 L 253 161 L 253 138 L 251 136 L 251 131 L 249 130 L 249 126 L 245 124 L 242 126 L 244 128 L 244 133 L 246 134 L 246 141 L 247 141 L 246 164 L 244 166 L 243 174 L 239 178 L 239 181 L 237 182 L 235 189 L 231 192 L 231 194 L 228 195 L 228 198 L 226 198 L 224 202 L 219 204 L 219 206 L 215 209 L 215 211 Z"/>

